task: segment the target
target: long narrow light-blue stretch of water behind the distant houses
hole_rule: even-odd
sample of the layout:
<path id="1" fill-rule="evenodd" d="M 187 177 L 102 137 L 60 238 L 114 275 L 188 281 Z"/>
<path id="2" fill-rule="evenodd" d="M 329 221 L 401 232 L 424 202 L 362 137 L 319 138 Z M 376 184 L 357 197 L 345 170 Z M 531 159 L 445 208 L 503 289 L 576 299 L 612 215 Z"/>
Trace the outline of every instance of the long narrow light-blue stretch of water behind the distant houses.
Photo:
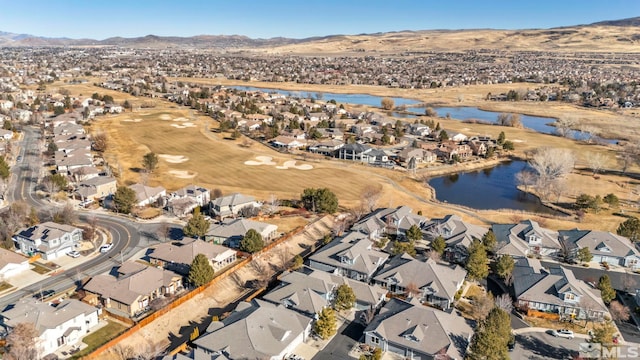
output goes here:
<path id="1" fill-rule="evenodd" d="M 244 90 L 244 91 L 263 91 L 263 92 L 277 92 L 280 94 L 284 94 L 290 97 L 299 97 L 299 98 L 312 98 L 312 99 L 322 99 L 324 101 L 335 100 L 338 104 L 356 104 L 356 105 L 367 105 L 367 106 L 375 106 L 380 107 L 382 102 L 381 96 L 374 95 L 366 95 L 366 94 L 338 94 L 338 93 L 326 93 L 326 92 L 314 92 L 314 91 L 289 91 L 289 90 L 280 90 L 280 89 L 268 89 L 268 88 L 257 88 L 252 86 L 231 86 L 234 89 Z M 412 107 L 420 104 L 420 101 L 415 99 L 406 99 L 395 97 L 392 98 L 395 106 L 406 105 L 405 113 L 394 112 L 393 116 L 399 118 L 416 118 L 417 115 L 422 115 L 425 113 L 426 108 L 424 107 Z M 480 110 L 476 107 L 434 107 L 440 117 L 446 117 L 447 114 L 450 115 L 452 119 L 456 120 L 481 120 L 484 122 L 496 123 L 498 120 L 499 112 L 495 111 L 486 111 Z M 531 116 L 531 115 L 523 115 L 520 114 L 520 120 L 522 121 L 522 125 L 528 129 L 537 131 L 542 134 L 556 134 L 556 128 L 549 125 L 554 123 L 556 119 L 550 117 L 542 117 L 542 116 Z M 582 131 L 572 131 L 571 137 L 576 140 L 586 140 L 590 137 L 593 138 L 590 134 L 584 133 Z M 618 140 L 615 139 L 601 139 L 601 138 L 593 138 L 595 141 L 602 141 L 606 143 L 615 144 Z"/>

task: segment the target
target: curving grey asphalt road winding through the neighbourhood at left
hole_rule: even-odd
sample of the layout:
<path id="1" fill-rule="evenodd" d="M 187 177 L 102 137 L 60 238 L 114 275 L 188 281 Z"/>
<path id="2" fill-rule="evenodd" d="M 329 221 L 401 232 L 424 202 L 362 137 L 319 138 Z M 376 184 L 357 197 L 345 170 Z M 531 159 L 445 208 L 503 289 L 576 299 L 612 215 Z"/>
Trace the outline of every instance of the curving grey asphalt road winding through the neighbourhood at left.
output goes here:
<path id="1" fill-rule="evenodd" d="M 16 163 L 12 169 L 9 187 L 6 192 L 6 199 L 9 203 L 15 201 L 25 201 L 29 206 L 37 209 L 56 211 L 52 204 L 45 203 L 35 196 L 35 187 L 40 178 L 42 160 L 40 159 L 40 132 L 32 127 L 24 128 L 24 139 L 22 140 L 20 155 L 22 161 Z M 81 221 L 86 221 L 88 217 L 95 217 L 100 228 L 106 229 L 111 234 L 113 248 L 107 253 L 96 253 L 89 256 L 89 260 L 56 273 L 44 280 L 21 288 L 0 298 L 0 311 L 8 305 L 15 303 L 22 297 L 31 296 L 41 290 L 53 289 L 56 292 L 78 286 L 83 278 L 95 276 L 109 272 L 114 266 L 133 256 L 141 245 L 140 233 L 145 228 L 153 225 L 140 225 L 126 218 L 91 212 L 77 212 Z M 147 230 L 153 233 L 152 230 Z"/>

